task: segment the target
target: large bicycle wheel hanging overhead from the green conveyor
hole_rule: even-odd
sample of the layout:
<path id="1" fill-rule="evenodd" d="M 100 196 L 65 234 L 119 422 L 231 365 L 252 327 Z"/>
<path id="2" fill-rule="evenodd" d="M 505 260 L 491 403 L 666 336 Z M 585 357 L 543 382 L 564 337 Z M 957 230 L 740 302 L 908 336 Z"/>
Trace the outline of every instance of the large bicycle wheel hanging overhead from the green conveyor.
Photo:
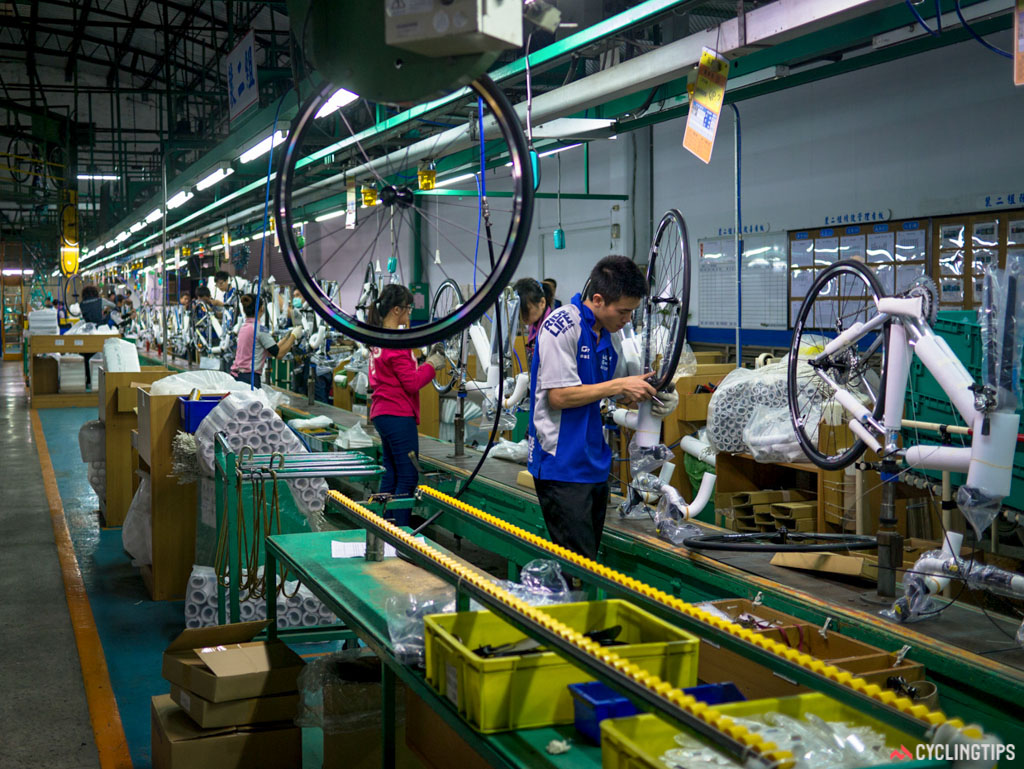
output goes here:
<path id="1" fill-rule="evenodd" d="M 402 124 L 391 132 L 360 133 L 355 117 L 349 120 L 343 110 L 336 112 L 346 138 L 334 141 L 316 125 L 316 115 L 335 91 L 325 86 L 305 102 L 279 168 L 278 231 L 288 269 L 309 305 L 356 341 L 406 348 L 447 339 L 495 303 L 526 245 L 534 183 L 518 118 L 501 89 L 483 76 L 457 102 L 424 113 L 412 128 Z M 478 104 L 483 106 L 479 115 Z M 493 171 L 477 173 L 481 155 Z M 428 163 L 453 174 L 438 182 L 441 186 L 463 182 L 463 187 L 417 188 L 418 170 Z M 466 186 L 464 179 L 474 176 L 497 188 L 486 207 L 474 182 Z M 358 195 L 350 182 L 361 187 Z M 369 204 L 356 209 L 354 222 L 348 221 L 351 209 L 330 210 L 339 204 L 344 207 L 350 196 Z M 300 217 L 314 216 L 322 221 L 307 231 L 300 252 L 295 227 Z M 410 248 L 414 238 L 421 247 L 418 253 Z M 409 329 L 377 328 L 360 318 L 361 292 L 351 276 L 386 263 L 387 272 L 408 283 L 413 261 L 422 260 L 426 250 L 423 241 L 432 241 L 434 247 L 431 271 L 451 277 L 449 266 L 461 271 L 465 262 L 472 267 L 474 291 L 465 304 L 457 312 Z M 338 282 L 341 296 L 330 297 L 317 280 Z"/>

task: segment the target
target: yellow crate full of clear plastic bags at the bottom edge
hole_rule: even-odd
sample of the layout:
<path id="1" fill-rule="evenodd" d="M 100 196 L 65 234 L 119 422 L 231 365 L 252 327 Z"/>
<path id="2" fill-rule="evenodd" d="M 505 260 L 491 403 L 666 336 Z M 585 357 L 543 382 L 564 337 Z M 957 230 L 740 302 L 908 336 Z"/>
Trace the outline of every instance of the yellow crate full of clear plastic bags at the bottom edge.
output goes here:
<path id="1" fill-rule="evenodd" d="M 920 739 L 900 731 L 860 711 L 843 704 L 824 694 L 812 692 L 792 697 L 768 697 L 751 699 L 745 702 L 729 702 L 715 706 L 723 716 L 734 718 L 756 718 L 762 713 L 781 713 L 800 718 L 805 713 L 813 713 L 825 721 L 846 721 L 870 726 L 886 735 L 886 745 L 898 750 L 906 745 L 910 753 L 921 742 Z M 644 714 L 629 718 L 606 719 L 601 722 L 601 767 L 602 769 L 665 769 L 660 757 L 666 751 L 679 745 L 675 736 L 682 727 L 667 723 L 656 716 Z M 737 767 L 740 764 L 736 764 Z"/>

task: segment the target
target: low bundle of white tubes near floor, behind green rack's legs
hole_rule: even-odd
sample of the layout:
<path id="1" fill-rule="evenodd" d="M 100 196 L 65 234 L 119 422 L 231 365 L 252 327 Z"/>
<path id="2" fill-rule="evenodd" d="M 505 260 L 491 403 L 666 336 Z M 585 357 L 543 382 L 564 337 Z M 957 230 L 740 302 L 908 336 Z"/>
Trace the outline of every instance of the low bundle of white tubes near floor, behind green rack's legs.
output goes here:
<path id="1" fill-rule="evenodd" d="M 285 583 L 284 592 L 278 595 L 276 608 L 279 628 L 313 628 L 338 622 L 335 613 L 316 596 L 294 582 Z M 266 620 L 266 597 L 240 594 L 239 614 L 242 622 Z M 193 566 L 185 591 L 185 627 L 205 628 L 216 624 L 217 574 L 212 566 Z"/>

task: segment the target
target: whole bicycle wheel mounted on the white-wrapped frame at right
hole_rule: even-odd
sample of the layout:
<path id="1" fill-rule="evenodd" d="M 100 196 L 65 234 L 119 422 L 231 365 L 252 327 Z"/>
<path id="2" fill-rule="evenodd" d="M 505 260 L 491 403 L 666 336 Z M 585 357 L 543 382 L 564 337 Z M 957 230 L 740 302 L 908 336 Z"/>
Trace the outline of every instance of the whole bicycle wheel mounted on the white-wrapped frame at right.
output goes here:
<path id="1" fill-rule="evenodd" d="M 878 314 L 882 287 L 854 260 L 837 262 L 814 281 L 797 314 L 787 373 L 790 416 L 797 440 L 820 468 L 840 470 L 864 452 L 849 428 L 851 415 L 836 398 L 836 386 L 860 400 L 876 421 L 885 410 L 888 323 L 841 350 L 817 356 L 828 340 Z"/>

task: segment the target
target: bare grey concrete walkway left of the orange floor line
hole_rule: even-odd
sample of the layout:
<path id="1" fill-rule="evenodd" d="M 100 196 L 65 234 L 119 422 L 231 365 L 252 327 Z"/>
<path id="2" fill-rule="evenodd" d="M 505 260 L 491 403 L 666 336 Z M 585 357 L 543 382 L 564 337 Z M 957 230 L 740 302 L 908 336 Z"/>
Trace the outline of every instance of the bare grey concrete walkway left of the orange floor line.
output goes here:
<path id="1" fill-rule="evenodd" d="M 20 361 L 0 366 L 0 766 L 98 767 Z"/>

